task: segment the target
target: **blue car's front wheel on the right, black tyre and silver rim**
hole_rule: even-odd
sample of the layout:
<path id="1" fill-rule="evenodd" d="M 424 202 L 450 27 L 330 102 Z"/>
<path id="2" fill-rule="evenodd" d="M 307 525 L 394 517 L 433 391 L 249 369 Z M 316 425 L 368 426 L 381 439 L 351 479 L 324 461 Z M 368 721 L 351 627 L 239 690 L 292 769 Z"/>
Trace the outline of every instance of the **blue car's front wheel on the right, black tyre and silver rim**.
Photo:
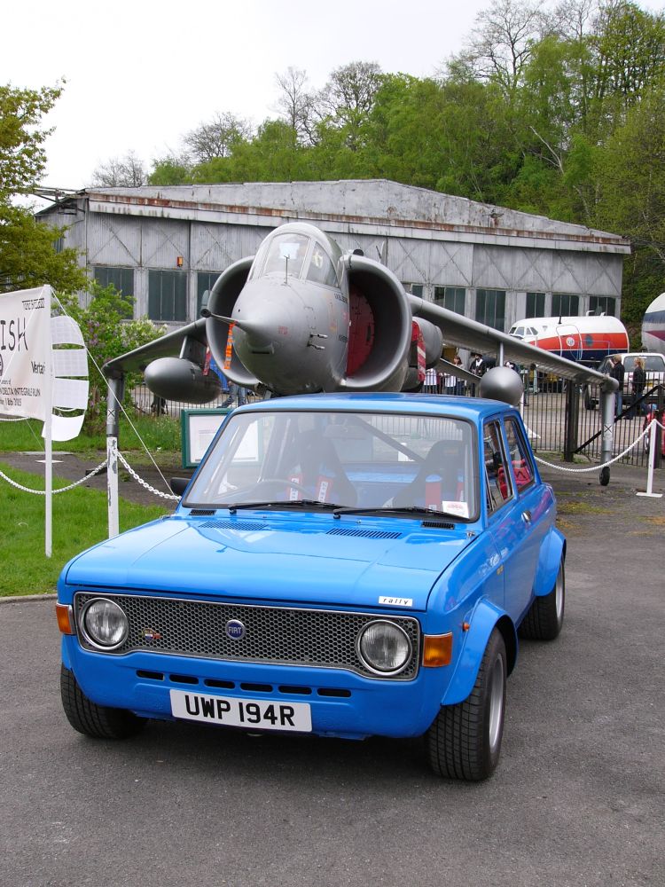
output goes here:
<path id="1" fill-rule="evenodd" d="M 463 703 L 444 705 L 425 734 L 434 773 L 477 782 L 496 768 L 504 733 L 506 664 L 504 639 L 495 628 L 471 694 Z"/>

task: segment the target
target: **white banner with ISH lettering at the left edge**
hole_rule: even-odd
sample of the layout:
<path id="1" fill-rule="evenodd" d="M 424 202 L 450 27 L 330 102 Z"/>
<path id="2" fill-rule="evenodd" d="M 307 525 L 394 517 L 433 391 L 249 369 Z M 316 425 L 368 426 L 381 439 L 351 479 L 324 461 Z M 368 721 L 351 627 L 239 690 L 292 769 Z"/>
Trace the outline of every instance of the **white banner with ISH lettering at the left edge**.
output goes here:
<path id="1" fill-rule="evenodd" d="M 51 287 L 0 294 L 0 413 L 51 412 Z"/>

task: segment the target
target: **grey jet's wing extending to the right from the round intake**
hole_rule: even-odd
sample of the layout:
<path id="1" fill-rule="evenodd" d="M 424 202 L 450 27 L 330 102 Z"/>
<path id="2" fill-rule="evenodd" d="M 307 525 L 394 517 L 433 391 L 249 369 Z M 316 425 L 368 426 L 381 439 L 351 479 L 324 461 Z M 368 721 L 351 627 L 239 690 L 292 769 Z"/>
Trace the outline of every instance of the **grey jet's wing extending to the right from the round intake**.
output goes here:
<path id="1" fill-rule="evenodd" d="M 609 376 L 592 370 L 588 366 L 576 364 L 566 357 L 559 357 L 552 351 L 527 345 L 515 336 L 501 333 L 491 326 L 485 326 L 471 318 L 465 318 L 455 311 L 426 302 L 417 295 L 407 294 L 411 303 L 414 318 L 424 318 L 438 326 L 443 334 L 443 341 L 457 348 L 470 349 L 479 354 L 497 354 L 500 345 L 504 348 L 504 361 L 512 360 L 515 364 L 530 366 L 536 364 L 539 370 L 555 373 L 564 379 L 571 379 L 578 384 L 603 385 L 610 380 Z M 614 387 L 610 383 L 610 387 Z"/>

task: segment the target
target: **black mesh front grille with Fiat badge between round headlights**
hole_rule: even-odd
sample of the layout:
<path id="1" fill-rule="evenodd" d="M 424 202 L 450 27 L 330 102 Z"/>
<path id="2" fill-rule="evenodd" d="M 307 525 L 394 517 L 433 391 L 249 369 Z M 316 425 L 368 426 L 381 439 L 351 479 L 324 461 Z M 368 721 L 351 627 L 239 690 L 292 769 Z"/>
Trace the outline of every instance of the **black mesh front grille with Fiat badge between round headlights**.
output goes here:
<path id="1" fill-rule="evenodd" d="M 129 619 L 127 640 L 109 655 L 147 650 L 236 662 L 348 669 L 380 679 L 379 675 L 368 671 L 356 655 L 358 632 L 368 622 L 380 618 L 399 625 L 411 639 L 413 651 L 407 667 L 396 677 L 387 677 L 410 680 L 418 673 L 419 622 L 412 616 L 253 607 L 135 594 L 77 593 L 74 597 L 77 625 L 87 601 L 102 596 L 115 600 Z M 231 619 L 237 619 L 245 626 L 245 636 L 240 640 L 232 640 L 225 632 Z M 94 649 L 82 632 L 79 632 L 79 640 L 83 647 Z"/>

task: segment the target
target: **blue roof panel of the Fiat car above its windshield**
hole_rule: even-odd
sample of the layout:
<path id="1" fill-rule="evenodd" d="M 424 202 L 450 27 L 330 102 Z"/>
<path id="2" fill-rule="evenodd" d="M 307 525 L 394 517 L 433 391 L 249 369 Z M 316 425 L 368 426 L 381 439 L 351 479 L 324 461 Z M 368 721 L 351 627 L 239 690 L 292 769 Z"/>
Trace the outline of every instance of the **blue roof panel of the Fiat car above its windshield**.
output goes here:
<path id="1" fill-rule="evenodd" d="M 432 394 L 408 394 L 393 391 L 372 391 L 353 394 L 306 394 L 275 397 L 255 401 L 240 407 L 237 412 L 255 410 L 275 412 L 286 410 L 328 410 L 334 412 L 400 412 L 449 416 L 477 422 L 497 412 L 519 415 L 514 407 L 498 400 L 482 397 L 443 396 Z"/>

